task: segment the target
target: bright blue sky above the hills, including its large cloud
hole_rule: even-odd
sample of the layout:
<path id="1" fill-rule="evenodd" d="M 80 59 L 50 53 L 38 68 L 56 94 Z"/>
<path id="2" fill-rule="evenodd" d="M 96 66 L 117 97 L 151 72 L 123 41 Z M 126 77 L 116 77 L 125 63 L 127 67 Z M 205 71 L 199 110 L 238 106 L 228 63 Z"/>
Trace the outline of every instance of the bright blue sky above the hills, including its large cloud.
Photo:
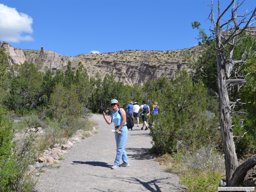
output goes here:
<path id="1" fill-rule="evenodd" d="M 220 0 L 221 11 L 229 2 Z M 21 49 L 44 46 L 73 57 L 92 51 L 190 48 L 198 35 L 191 23 L 200 22 L 206 32 L 210 27 L 206 3 L 211 1 L 0 0 L 0 41 Z M 256 0 L 245 0 L 239 10 L 255 6 Z"/>

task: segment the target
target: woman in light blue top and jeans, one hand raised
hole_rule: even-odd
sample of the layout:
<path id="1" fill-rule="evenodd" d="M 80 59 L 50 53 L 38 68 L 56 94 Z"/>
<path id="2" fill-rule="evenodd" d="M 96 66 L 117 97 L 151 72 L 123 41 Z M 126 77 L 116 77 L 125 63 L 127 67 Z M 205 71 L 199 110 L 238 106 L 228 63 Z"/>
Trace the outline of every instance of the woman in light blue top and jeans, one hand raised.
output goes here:
<path id="1" fill-rule="evenodd" d="M 128 129 L 126 126 L 126 112 L 120 108 L 120 104 L 116 99 L 110 101 L 110 106 L 114 110 L 110 118 L 107 119 L 106 113 L 103 111 L 103 118 L 107 124 L 114 122 L 115 124 L 115 138 L 116 138 L 116 159 L 111 169 L 118 169 L 118 167 L 129 167 L 129 160 L 124 150 L 128 137 Z M 120 112 L 120 113 L 119 113 Z M 120 164 L 121 159 L 123 163 Z M 120 164 L 120 165 L 119 165 Z"/>

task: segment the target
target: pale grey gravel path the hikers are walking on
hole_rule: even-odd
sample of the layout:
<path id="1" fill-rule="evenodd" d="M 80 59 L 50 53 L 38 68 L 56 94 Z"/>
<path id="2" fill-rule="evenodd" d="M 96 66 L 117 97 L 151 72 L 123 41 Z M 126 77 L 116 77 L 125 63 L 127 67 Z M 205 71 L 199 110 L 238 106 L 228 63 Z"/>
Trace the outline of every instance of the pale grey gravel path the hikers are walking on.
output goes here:
<path id="1" fill-rule="evenodd" d="M 41 173 L 38 191 L 186 191 L 176 174 L 165 172 L 145 153 L 151 145 L 149 130 L 129 130 L 126 153 L 130 167 L 113 170 L 116 156 L 114 125 L 93 115 L 99 133 L 68 150 L 59 168 Z"/>

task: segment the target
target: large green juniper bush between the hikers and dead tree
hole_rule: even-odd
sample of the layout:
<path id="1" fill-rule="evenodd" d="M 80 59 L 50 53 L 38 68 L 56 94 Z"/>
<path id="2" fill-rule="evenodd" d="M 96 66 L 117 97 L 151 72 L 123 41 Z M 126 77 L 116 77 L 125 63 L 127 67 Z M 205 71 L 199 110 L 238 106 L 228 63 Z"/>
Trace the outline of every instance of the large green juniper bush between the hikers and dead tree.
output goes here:
<path id="1" fill-rule="evenodd" d="M 217 142 L 220 137 L 220 132 L 216 129 L 219 126 L 217 117 L 206 110 L 207 90 L 204 85 L 198 83 L 193 86 L 184 70 L 176 72 L 175 76 L 173 83 L 163 81 L 162 87 L 160 84 L 156 87 L 154 82 L 146 84 L 145 92 L 150 92 L 151 95 L 159 94 L 158 90 L 162 91 L 159 114 L 151 116 L 149 120 L 150 122 L 151 118 L 155 118 L 150 135 L 153 148 L 160 154 L 176 151 L 180 147 L 176 146 L 178 143 L 189 150 L 207 142 Z"/>

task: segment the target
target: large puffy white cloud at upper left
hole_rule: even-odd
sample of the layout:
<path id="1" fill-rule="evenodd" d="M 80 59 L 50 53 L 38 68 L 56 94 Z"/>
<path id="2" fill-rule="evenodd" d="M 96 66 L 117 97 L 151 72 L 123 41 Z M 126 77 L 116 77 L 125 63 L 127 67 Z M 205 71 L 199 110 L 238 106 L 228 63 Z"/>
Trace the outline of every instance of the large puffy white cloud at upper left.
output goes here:
<path id="1" fill-rule="evenodd" d="M 12 43 L 34 41 L 33 19 L 25 13 L 17 12 L 16 8 L 0 4 L 0 40 Z"/>

